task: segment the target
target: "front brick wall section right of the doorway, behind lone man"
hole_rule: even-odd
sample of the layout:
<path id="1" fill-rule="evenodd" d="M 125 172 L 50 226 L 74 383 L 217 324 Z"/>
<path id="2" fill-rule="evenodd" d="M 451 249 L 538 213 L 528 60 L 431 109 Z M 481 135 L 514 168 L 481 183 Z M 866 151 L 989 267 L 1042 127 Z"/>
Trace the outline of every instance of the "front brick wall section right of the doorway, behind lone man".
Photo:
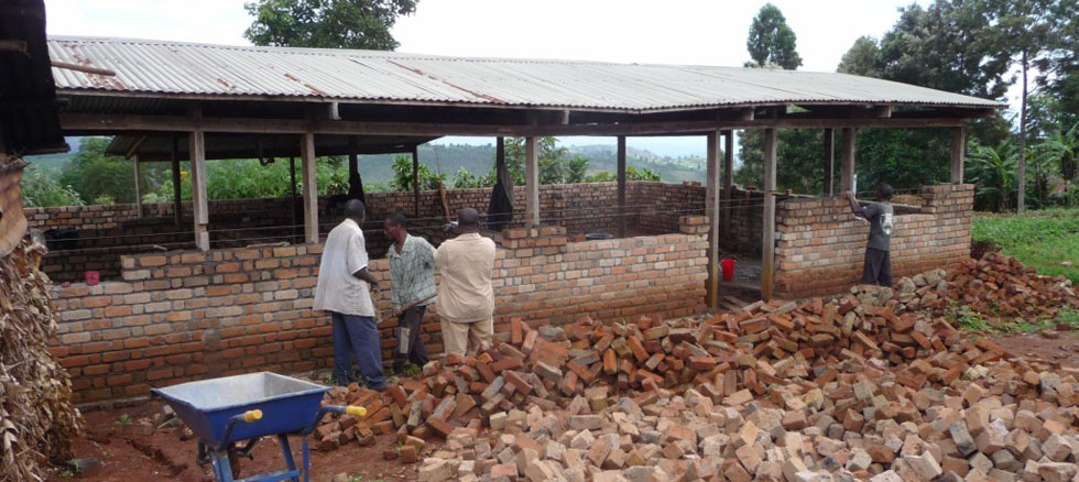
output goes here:
<path id="1" fill-rule="evenodd" d="M 974 186 L 925 186 L 925 206 L 895 216 L 895 277 L 952 267 L 970 253 Z M 781 297 L 842 292 L 861 280 L 869 223 L 842 198 L 792 198 L 776 207 L 775 287 Z"/>

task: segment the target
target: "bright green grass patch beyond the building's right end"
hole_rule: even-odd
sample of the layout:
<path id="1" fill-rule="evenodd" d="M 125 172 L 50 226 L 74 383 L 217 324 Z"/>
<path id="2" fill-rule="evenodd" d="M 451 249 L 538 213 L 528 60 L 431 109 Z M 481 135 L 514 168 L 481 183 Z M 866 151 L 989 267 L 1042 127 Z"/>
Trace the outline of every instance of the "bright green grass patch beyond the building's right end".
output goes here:
<path id="1" fill-rule="evenodd" d="M 1079 209 L 977 216 L 971 238 L 1000 247 L 1038 274 L 1065 275 L 1079 284 Z M 1072 265 L 1062 266 L 1062 261 Z"/>

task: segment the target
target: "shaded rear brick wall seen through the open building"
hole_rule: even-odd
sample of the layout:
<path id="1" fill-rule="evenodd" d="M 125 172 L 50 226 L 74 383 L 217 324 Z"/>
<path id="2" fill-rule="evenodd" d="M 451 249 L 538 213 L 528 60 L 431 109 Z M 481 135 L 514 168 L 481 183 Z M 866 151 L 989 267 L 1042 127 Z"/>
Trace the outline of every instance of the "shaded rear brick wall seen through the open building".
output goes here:
<path id="1" fill-rule="evenodd" d="M 540 208 L 543 222 L 566 227 L 569 232 L 614 232 L 618 227 L 617 190 L 615 183 L 541 186 Z M 704 204 L 704 193 L 705 189 L 700 186 L 630 182 L 626 186 L 626 204 L 630 206 L 628 223 L 641 226 L 646 233 L 676 232 L 678 216 L 701 212 L 699 206 Z M 446 201 L 451 216 L 456 216 L 464 207 L 475 207 L 480 212 L 486 212 L 490 196 L 488 188 L 448 189 Z M 524 189 L 515 189 L 514 197 L 515 206 L 523 207 Z M 384 253 L 389 247 L 389 240 L 382 235 L 381 220 L 396 210 L 404 210 L 413 216 L 413 199 L 412 193 L 367 195 L 368 218 L 371 221 L 364 226 L 364 230 L 368 234 L 368 249 L 372 253 Z M 335 202 L 339 198 L 319 199 L 318 219 L 324 235 L 341 220 L 341 210 Z M 211 245 L 241 248 L 274 240 L 299 242 L 303 240 L 302 229 L 288 228 L 293 226 L 294 208 L 298 209 L 298 206 L 293 205 L 291 198 L 210 201 Z M 172 204 L 144 205 L 143 210 L 145 217 L 139 218 L 135 205 L 26 209 L 31 228 L 42 231 L 78 230 L 77 239 L 51 245 L 53 252 L 46 255 L 42 270 L 57 282 L 80 281 L 88 270 L 99 271 L 102 280 L 119 280 L 121 255 L 146 252 L 151 244 L 168 250 L 194 248 L 192 222 L 188 219 L 175 224 Z M 651 213 L 656 210 L 667 212 Z M 677 212 L 671 213 L 672 210 Z M 190 202 L 184 204 L 183 212 L 190 215 Z M 421 193 L 419 216 L 423 218 L 419 223 L 429 228 L 444 222 L 438 191 Z M 296 219 L 296 224 L 303 223 L 303 215 L 298 215 Z M 519 224 L 524 222 L 523 208 L 514 219 Z M 760 240 L 760 235 L 756 239 Z"/>

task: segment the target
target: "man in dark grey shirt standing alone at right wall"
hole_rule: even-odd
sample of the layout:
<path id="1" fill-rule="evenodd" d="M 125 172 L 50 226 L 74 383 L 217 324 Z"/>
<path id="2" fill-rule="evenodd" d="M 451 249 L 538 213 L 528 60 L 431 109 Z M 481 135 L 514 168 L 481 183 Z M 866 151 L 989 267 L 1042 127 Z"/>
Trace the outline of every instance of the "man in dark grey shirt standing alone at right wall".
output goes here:
<path id="1" fill-rule="evenodd" d="M 892 186 L 876 186 L 876 202 L 862 208 L 854 194 L 847 191 L 850 210 L 869 221 L 869 242 L 865 244 L 865 265 L 862 284 L 892 286 Z"/>

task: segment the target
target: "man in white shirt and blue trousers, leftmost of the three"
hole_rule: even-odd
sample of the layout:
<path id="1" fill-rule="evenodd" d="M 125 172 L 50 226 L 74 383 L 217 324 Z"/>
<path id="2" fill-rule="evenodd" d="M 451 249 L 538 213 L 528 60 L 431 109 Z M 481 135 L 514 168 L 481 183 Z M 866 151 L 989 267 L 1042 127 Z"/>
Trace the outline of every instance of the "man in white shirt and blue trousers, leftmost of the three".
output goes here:
<path id="1" fill-rule="evenodd" d="M 382 373 L 382 348 L 374 324 L 370 288 L 379 282 L 368 270 L 363 240 L 367 208 L 359 199 L 345 205 L 345 221 L 337 224 L 323 247 L 315 285 L 314 309 L 329 311 L 334 320 L 334 380 L 340 386 L 356 382 L 353 357 L 371 390 L 386 386 Z"/>

